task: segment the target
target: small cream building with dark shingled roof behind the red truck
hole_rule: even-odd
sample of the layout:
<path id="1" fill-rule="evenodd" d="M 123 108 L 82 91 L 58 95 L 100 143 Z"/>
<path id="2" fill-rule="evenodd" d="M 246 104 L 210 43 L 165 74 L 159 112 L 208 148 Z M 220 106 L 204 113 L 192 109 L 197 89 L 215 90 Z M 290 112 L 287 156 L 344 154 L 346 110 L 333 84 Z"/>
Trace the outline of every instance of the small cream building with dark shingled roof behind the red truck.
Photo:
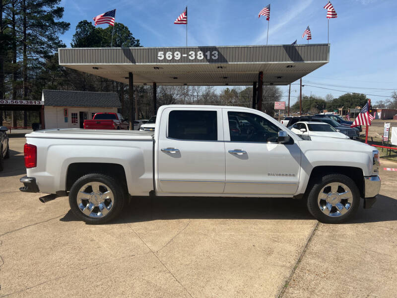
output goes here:
<path id="1" fill-rule="evenodd" d="M 43 90 L 44 126 L 50 128 L 83 128 L 83 122 L 95 113 L 117 112 L 121 107 L 114 92 Z M 42 125 L 43 126 L 43 125 Z"/>

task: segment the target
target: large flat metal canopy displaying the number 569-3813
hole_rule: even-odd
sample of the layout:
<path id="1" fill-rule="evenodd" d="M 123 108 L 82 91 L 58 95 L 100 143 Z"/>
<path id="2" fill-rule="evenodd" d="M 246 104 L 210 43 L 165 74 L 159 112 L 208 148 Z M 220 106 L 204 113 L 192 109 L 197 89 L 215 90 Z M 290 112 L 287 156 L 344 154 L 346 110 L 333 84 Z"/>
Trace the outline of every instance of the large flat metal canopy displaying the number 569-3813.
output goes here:
<path id="1" fill-rule="evenodd" d="M 60 48 L 59 64 L 123 83 L 286 85 L 329 62 L 330 45 Z"/>

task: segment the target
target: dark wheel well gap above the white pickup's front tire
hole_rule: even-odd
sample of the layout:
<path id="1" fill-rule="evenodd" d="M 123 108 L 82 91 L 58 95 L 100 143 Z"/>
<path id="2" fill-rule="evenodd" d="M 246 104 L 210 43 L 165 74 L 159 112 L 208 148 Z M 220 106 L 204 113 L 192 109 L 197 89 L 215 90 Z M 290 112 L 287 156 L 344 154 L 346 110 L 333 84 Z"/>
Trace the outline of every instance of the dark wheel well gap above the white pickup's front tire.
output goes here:
<path id="1" fill-rule="evenodd" d="M 343 174 L 349 177 L 357 185 L 361 198 L 364 198 L 364 174 L 362 169 L 350 166 L 316 166 L 310 173 L 309 183 L 307 190 L 310 189 L 310 185 L 314 184 L 321 179 L 324 175 L 328 174 Z"/>

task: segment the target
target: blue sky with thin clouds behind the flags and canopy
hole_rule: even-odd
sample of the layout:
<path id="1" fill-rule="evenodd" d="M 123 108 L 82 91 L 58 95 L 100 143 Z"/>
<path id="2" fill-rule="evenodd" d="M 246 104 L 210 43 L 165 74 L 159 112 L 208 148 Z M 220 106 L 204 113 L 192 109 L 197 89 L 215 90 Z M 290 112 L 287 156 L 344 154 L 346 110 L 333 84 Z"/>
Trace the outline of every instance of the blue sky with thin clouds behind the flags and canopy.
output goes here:
<path id="1" fill-rule="evenodd" d="M 264 1 L 62 0 L 64 20 L 70 22 L 62 40 L 69 47 L 80 20 L 92 21 L 116 8 L 116 21 L 128 26 L 141 45 L 184 46 L 185 25 L 173 22 L 188 5 L 189 46 L 263 45 L 267 21 L 258 19 L 258 12 L 270 3 L 269 44 L 290 44 L 295 39 L 298 44 L 307 43 L 301 37 L 308 25 L 310 43 L 327 43 L 327 10 L 323 8 L 327 0 Z M 397 90 L 397 0 L 331 2 L 338 17 L 330 20 L 330 63 L 303 78 L 303 93 L 338 97 L 350 91 L 372 94 L 368 97 L 373 101 L 387 100 L 381 96 Z M 288 93 L 287 87 L 281 88 L 283 94 Z M 299 85 L 292 85 L 291 96 L 298 95 Z"/>

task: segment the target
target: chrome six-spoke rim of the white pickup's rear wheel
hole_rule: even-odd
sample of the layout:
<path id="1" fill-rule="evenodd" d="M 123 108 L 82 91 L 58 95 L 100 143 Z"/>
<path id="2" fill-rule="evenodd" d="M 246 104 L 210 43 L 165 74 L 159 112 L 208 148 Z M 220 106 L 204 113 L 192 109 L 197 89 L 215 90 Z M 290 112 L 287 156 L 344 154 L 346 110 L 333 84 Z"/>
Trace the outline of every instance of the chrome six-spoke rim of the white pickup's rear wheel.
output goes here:
<path id="1" fill-rule="evenodd" d="M 113 208 L 114 195 L 105 183 L 88 182 L 79 189 L 76 201 L 78 209 L 86 216 L 103 218 Z"/>

